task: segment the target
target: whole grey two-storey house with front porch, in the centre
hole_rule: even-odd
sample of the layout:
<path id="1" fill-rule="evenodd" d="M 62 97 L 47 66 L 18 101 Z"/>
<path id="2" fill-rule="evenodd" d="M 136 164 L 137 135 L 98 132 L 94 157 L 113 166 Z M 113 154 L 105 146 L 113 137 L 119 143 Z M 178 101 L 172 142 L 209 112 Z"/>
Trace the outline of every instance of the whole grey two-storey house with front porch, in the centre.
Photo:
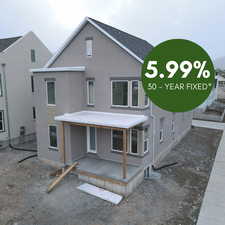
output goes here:
<path id="1" fill-rule="evenodd" d="M 39 158 L 78 161 L 80 179 L 123 195 L 148 177 L 192 120 L 145 96 L 141 67 L 152 48 L 86 18 L 44 68 L 32 70 Z"/>

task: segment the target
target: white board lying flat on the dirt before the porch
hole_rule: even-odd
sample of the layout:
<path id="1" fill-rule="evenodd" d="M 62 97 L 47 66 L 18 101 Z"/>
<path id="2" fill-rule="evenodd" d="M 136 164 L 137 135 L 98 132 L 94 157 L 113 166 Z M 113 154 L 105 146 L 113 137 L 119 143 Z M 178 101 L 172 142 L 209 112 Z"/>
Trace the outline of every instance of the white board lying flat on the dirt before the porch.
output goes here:
<path id="1" fill-rule="evenodd" d="M 121 195 L 115 194 L 113 192 L 107 191 L 103 188 L 96 187 L 92 184 L 84 183 L 77 187 L 77 189 L 93 195 L 95 197 L 101 198 L 105 201 L 111 202 L 115 205 L 118 205 L 123 197 Z"/>

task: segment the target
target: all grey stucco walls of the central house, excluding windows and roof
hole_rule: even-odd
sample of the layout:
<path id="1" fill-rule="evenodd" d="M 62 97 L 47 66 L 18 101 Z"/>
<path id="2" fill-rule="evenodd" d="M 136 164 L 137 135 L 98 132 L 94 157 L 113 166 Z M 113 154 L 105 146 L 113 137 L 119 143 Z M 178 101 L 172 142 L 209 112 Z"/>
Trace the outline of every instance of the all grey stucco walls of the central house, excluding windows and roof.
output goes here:
<path id="1" fill-rule="evenodd" d="M 85 39 L 87 37 L 93 38 L 92 58 L 87 58 L 85 56 Z M 153 105 L 152 114 L 155 115 L 155 120 L 153 122 L 153 117 L 151 116 L 151 104 L 145 109 L 115 108 L 111 106 L 111 79 L 140 79 L 141 64 L 90 24 L 87 24 L 83 30 L 81 30 L 79 35 L 51 65 L 51 67 L 67 66 L 85 66 L 86 71 L 83 73 L 64 72 L 61 74 L 36 74 L 36 85 L 39 87 L 36 98 L 38 108 L 37 115 L 39 118 L 37 123 L 38 148 L 39 156 L 42 158 L 59 160 L 59 152 L 49 153 L 47 149 L 48 107 L 44 105 L 46 102 L 44 79 L 46 77 L 54 77 L 56 79 L 56 110 L 54 115 L 80 110 L 94 110 L 144 114 L 149 117 L 149 120 L 143 124 L 143 126 L 149 126 L 149 153 L 144 157 L 128 155 L 128 163 L 130 164 L 141 164 L 143 167 L 150 166 L 160 155 L 168 151 L 168 148 L 171 148 L 172 144 L 182 136 L 181 134 L 185 133 L 191 126 L 192 113 L 185 113 L 184 119 L 181 114 L 177 113 L 175 116 L 175 134 L 172 136 L 170 132 L 172 113 L 170 112 L 163 111 Z M 86 103 L 86 79 L 88 78 L 95 80 L 95 106 L 87 106 Z M 75 91 L 79 93 L 75 93 Z M 52 115 L 52 118 L 54 115 Z M 160 117 L 165 117 L 164 141 L 161 144 L 159 144 L 158 136 Z M 155 138 L 153 140 L 154 135 Z M 111 152 L 110 130 L 97 130 L 97 145 L 98 154 L 93 157 L 121 162 L 121 153 Z M 83 150 L 81 151 L 82 148 Z M 142 147 L 140 146 L 140 149 L 141 148 Z M 79 157 L 85 156 L 87 154 L 86 149 L 86 130 L 78 127 L 67 127 L 67 162 L 70 163 Z"/>

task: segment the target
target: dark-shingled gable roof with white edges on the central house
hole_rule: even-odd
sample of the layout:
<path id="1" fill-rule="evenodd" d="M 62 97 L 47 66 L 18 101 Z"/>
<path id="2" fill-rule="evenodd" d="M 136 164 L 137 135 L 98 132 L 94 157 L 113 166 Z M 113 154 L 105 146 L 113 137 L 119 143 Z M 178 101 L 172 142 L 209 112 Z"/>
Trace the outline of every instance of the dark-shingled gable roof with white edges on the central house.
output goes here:
<path id="1" fill-rule="evenodd" d="M 78 28 L 72 33 L 72 35 L 67 39 L 64 45 L 56 52 L 55 55 L 47 62 L 45 67 L 50 67 L 52 63 L 61 55 L 64 49 L 73 41 L 73 39 L 79 34 L 82 28 L 87 24 L 91 23 L 100 32 L 109 37 L 122 49 L 128 52 L 131 56 L 137 59 L 140 63 L 144 62 L 145 56 L 149 51 L 152 50 L 153 46 L 147 41 L 128 34 L 124 31 L 118 30 L 112 26 L 94 20 L 92 18 L 86 17 L 84 21 L 78 26 Z"/>

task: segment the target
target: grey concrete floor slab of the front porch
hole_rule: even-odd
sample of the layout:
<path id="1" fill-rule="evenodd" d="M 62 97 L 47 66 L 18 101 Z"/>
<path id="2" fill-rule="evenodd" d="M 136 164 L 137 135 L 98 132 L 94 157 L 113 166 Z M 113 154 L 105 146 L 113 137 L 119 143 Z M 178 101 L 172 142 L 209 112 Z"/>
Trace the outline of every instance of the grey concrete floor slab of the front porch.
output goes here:
<path id="1" fill-rule="evenodd" d="M 141 171 L 141 167 L 127 165 L 127 178 L 123 179 L 122 163 L 90 157 L 84 157 L 78 160 L 78 162 L 78 173 L 79 171 L 84 171 L 96 176 L 111 178 L 123 182 L 128 182 Z"/>

